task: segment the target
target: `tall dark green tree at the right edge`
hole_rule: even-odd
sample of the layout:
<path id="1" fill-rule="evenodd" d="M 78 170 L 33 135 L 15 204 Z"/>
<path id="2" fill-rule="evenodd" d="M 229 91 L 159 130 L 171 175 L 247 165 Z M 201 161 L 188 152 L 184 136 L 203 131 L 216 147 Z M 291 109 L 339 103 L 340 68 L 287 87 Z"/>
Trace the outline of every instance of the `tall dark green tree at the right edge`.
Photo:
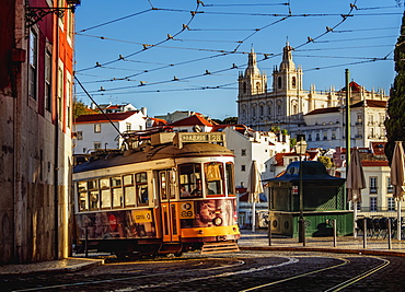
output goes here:
<path id="1" fill-rule="evenodd" d="M 395 141 L 404 141 L 405 139 L 405 12 L 402 17 L 401 34 L 394 50 L 394 61 L 396 75 L 390 91 L 387 118 L 384 122 L 387 138 L 385 155 L 390 164 Z"/>

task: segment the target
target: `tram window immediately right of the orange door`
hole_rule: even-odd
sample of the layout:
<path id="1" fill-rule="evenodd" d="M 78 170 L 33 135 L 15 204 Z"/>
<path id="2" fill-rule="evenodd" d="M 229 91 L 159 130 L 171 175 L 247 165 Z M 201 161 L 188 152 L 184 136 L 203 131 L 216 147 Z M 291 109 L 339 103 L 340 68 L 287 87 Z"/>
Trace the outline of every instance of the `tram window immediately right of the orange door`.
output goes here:
<path id="1" fill-rule="evenodd" d="M 182 164 L 178 170 L 181 198 L 202 197 L 200 165 Z"/>

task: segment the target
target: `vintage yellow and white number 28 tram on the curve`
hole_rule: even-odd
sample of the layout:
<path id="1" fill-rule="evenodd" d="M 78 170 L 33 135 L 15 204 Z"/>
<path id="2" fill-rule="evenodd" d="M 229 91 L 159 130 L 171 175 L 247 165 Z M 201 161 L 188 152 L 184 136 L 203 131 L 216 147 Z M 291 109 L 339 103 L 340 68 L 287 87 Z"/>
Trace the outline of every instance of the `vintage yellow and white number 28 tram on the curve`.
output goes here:
<path id="1" fill-rule="evenodd" d="M 238 250 L 233 153 L 221 132 L 148 132 L 73 171 L 78 246 L 117 256 Z"/>

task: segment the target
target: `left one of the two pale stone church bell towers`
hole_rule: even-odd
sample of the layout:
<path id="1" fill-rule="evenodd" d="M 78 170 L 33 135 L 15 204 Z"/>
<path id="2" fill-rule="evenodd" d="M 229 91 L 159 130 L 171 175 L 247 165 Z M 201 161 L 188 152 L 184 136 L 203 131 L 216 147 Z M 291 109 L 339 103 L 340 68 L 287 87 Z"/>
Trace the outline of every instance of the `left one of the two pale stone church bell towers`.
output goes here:
<path id="1" fill-rule="evenodd" d="M 267 75 L 257 68 L 256 52 L 252 48 L 248 54 L 247 68 L 239 74 L 239 100 L 262 94 L 267 91 Z"/>

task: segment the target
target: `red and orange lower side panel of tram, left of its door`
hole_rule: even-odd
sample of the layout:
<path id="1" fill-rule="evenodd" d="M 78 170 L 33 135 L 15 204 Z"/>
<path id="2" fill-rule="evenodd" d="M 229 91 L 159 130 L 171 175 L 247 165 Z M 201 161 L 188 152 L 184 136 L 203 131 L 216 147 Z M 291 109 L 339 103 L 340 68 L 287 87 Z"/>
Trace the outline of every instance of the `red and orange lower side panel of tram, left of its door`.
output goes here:
<path id="1" fill-rule="evenodd" d="M 125 210 L 78 214 L 79 238 L 89 240 L 155 237 L 150 210 Z"/>

